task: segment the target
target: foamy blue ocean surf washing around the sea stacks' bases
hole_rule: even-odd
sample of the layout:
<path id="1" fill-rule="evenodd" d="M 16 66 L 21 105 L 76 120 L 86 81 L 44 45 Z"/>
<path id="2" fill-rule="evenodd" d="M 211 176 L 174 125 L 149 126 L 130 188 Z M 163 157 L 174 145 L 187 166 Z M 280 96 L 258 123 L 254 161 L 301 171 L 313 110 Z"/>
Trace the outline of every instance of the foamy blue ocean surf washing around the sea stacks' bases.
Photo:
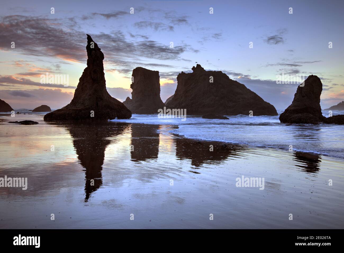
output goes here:
<path id="1" fill-rule="evenodd" d="M 283 110 L 278 110 L 280 115 Z M 323 110 L 328 117 L 328 111 Z M 333 115 L 344 111 L 333 111 Z M 158 118 L 158 115 L 133 114 L 116 122 L 159 124 L 161 133 L 175 133 L 186 138 L 246 144 L 255 147 L 279 148 L 344 158 L 344 125 L 282 124 L 278 116 L 236 115 L 229 120 L 202 119 L 186 115 L 181 118 Z M 292 145 L 292 146 L 290 146 Z"/>

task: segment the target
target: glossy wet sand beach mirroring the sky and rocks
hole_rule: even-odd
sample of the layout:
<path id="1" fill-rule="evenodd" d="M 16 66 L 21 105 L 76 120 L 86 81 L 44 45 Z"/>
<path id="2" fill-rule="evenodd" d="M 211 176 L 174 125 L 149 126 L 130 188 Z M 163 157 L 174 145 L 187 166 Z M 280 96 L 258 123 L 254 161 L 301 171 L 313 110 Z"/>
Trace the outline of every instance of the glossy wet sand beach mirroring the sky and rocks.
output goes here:
<path id="1" fill-rule="evenodd" d="M 27 190 L 0 188 L 0 228 L 343 228 L 342 159 L 163 125 L 24 119 L 40 124 L 0 125 L 0 177 L 28 178 Z M 264 178 L 264 190 L 236 187 L 241 176 Z"/>

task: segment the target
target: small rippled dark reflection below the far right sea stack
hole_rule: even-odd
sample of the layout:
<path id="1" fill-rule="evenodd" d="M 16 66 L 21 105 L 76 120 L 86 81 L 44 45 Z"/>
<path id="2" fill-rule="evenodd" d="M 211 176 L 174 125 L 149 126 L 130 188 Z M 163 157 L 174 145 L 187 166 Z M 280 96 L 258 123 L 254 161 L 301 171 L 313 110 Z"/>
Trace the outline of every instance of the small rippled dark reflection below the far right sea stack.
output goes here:
<path id="1" fill-rule="evenodd" d="M 301 168 L 303 172 L 318 173 L 320 170 L 321 156 L 317 154 L 309 154 L 304 152 L 295 152 L 294 161 L 302 164 L 295 164 L 296 167 Z"/>

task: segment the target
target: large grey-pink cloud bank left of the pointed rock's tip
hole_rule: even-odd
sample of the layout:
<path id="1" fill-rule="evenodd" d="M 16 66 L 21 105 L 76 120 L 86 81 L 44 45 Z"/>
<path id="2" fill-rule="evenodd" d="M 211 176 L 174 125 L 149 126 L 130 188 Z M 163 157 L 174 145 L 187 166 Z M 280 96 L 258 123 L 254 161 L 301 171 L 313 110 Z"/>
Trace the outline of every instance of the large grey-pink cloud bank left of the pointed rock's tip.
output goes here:
<path id="1" fill-rule="evenodd" d="M 5 16 L 0 19 L 0 48 L 10 48 L 34 56 L 54 56 L 63 59 L 83 59 L 85 34 L 73 28 L 64 30 L 60 19 L 46 19 L 23 15 Z M 65 23 L 66 25 L 67 22 Z M 84 39 L 84 40 L 82 40 Z"/>

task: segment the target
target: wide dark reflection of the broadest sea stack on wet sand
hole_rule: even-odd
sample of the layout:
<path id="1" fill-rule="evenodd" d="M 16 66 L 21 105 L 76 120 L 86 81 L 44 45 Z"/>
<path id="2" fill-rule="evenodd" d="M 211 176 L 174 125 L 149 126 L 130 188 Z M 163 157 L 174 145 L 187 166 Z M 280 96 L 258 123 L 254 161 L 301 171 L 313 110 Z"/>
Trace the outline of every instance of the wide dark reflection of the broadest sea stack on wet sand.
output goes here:
<path id="1" fill-rule="evenodd" d="M 211 146 L 212 145 L 212 146 Z M 193 166 L 204 163 L 219 164 L 229 157 L 244 156 L 244 146 L 229 143 L 206 142 L 192 139 L 175 138 L 176 156 L 179 159 L 190 159 Z M 211 148 L 213 147 L 213 151 Z"/>

